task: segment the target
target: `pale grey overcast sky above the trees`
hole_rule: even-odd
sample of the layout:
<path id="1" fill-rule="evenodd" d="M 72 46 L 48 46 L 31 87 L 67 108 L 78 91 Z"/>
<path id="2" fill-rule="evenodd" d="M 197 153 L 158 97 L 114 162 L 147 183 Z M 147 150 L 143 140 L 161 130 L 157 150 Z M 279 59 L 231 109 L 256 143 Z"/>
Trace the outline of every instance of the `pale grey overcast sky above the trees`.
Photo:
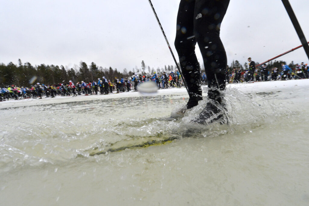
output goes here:
<path id="1" fill-rule="evenodd" d="M 173 52 L 180 0 L 152 0 Z M 128 71 L 175 65 L 148 0 L 0 0 L 0 63 L 88 65 Z M 290 0 L 309 38 L 309 1 Z M 228 64 L 263 62 L 301 45 L 281 0 L 231 0 L 221 26 Z M 197 48 L 197 56 L 202 64 Z M 177 59 L 178 60 L 178 59 Z M 278 60 L 308 62 L 300 48 Z"/>

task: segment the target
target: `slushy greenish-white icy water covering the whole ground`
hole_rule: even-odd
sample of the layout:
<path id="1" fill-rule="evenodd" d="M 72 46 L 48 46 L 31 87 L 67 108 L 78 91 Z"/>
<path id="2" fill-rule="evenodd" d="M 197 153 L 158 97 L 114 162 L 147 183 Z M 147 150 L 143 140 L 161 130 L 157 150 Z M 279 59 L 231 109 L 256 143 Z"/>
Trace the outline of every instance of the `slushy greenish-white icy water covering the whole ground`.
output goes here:
<path id="1" fill-rule="evenodd" d="M 206 98 L 169 118 L 185 91 L 3 104 L 1 205 L 308 205 L 309 84 L 297 81 L 228 86 L 227 125 L 190 122 Z"/>

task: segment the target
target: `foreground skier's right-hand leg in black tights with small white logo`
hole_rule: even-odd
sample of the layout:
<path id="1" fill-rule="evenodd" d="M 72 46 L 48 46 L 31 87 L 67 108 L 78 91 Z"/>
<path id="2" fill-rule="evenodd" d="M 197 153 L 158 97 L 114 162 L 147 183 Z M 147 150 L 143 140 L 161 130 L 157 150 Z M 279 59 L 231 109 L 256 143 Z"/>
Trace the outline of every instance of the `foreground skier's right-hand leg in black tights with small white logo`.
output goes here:
<path id="1" fill-rule="evenodd" d="M 220 26 L 229 0 L 200 0 L 195 3 L 194 35 L 201 50 L 210 88 L 209 98 L 215 99 L 218 89 L 226 84 L 226 52 L 220 39 Z M 214 92 L 216 91 L 216 92 Z"/>

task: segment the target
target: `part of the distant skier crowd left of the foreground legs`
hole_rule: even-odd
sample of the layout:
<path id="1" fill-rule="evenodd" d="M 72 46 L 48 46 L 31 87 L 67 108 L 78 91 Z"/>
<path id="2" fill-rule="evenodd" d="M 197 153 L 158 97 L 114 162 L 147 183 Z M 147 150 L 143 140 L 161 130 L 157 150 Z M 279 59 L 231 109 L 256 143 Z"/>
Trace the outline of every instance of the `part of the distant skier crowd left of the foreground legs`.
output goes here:
<path id="1" fill-rule="evenodd" d="M 59 83 L 53 85 L 40 84 L 31 85 L 30 87 L 24 86 L 6 86 L 0 87 L 0 101 L 6 101 L 10 99 L 29 99 L 56 96 L 78 96 L 78 95 L 108 95 L 112 93 L 137 91 L 137 87 L 142 82 L 153 81 L 156 82 L 158 89 L 166 89 L 168 87 L 181 87 L 183 82 L 180 78 L 180 73 L 176 69 L 175 73 L 171 72 L 167 74 L 158 75 L 156 73 L 152 75 L 139 75 L 135 73 L 130 78 L 121 77 L 118 79 L 115 77 L 113 80 L 108 80 L 105 77 L 98 78 L 97 81 L 90 82 L 72 82 Z"/>

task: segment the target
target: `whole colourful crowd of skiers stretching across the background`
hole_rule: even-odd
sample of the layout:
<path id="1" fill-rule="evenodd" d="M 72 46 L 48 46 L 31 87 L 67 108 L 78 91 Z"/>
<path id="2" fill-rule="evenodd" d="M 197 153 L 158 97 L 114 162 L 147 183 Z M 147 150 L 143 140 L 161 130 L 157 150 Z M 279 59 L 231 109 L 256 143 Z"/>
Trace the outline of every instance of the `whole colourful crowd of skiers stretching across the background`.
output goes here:
<path id="1" fill-rule="evenodd" d="M 308 65 L 303 62 L 294 68 L 290 68 L 288 65 L 281 64 L 282 69 L 279 72 L 277 67 L 269 69 L 266 64 L 263 64 L 260 68 L 255 67 L 254 61 L 248 58 L 248 69 L 241 70 L 240 68 L 226 69 L 227 83 L 241 83 L 241 82 L 259 82 L 259 81 L 276 81 L 276 80 L 290 80 L 290 79 L 305 79 L 309 78 Z M 90 82 L 72 82 L 59 83 L 53 85 L 45 85 L 36 83 L 30 87 L 24 86 L 6 86 L 0 87 L 0 101 L 6 101 L 10 99 L 29 99 L 56 96 L 79 96 L 79 95 L 108 95 L 112 93 L 137 91 L 137 87 L 142 82 L 153 81 L 157 84 L 158 89 L 166 89 L 168 87 L 181 87 L 184 86 L 180 72 L 176 69 L 175 72 L 167 74 L 151 74 L 151 75 L 139 75 L 135 73 L 132 77 L 121 77 L 118 79 L 115 77 L 113 80 L 108 80 L 105 77 L 98 78 L 97 81 Z M 207 84 L 207 76 L 205 73 L 201 74 L 201 84 Z"/>

